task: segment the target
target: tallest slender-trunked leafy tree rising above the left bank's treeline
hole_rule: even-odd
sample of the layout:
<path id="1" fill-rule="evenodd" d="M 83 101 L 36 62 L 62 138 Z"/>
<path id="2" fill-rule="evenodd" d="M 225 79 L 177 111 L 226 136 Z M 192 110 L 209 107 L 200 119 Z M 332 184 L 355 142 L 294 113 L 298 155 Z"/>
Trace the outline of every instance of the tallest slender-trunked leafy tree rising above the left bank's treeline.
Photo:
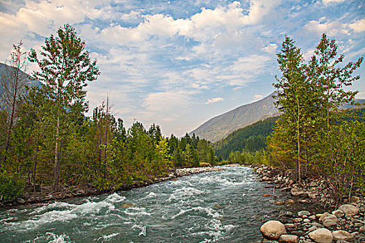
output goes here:
<path id="1" fill-rule="evenodd" d="M 57 36 L 47 37 L 42 51 L 31 50 L 29 60 L 38 64 L 40 71 L 33 77 L 44 83 L 47 98 L 54 101 L 54 190 L 58 189 L 60 169 L 60 149 L 63 141 L 64 121 L 67 113 L 76 109 L 88 109 L 85 102 L 87 81 L 95 81 L 99 75 L 96 60 L 90 60 L 85 42 L 76 35 L 75 29 L 65 24 L 57 31 Z"/>

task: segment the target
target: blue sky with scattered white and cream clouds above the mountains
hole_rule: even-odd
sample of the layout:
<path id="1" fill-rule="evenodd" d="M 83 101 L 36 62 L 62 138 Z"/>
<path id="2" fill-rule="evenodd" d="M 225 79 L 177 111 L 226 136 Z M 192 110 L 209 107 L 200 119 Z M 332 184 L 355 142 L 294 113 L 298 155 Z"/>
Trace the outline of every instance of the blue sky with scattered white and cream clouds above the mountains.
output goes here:
<path id="1" fill-rule="evenodd" d="M 345 62 L 365 54 L 363 0 L 0 0 L 0 23 L 0 62 L 19 40 L 40 50 L 71 24 L 101 72 L 86 87 L 88 114 L 108 96 L 127 128 L 155 123 L 165 136 L 273 92 L 285 35 L 306 60 L 322 33 Z M 365 99 L 364 64 L 356 74 L 351 90 Z"/>

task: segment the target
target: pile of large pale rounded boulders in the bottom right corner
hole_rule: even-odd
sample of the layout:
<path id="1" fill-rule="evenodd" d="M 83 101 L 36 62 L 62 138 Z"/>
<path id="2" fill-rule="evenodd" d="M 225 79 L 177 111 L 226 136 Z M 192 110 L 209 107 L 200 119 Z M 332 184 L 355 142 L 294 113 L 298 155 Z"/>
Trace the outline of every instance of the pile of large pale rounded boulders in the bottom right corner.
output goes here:
<path id="1" fill-rule="evenodd" d="M 307 210 L 300 211 L 297 215 L 286 213 L 280 216 L 279 221 L 268 221 L 263 224 L 261 233 L 267 240 L 276 240 L 274 242 L 365 242 L 364 213 L 365 203 L 361 201 L 344 204 L 332 212 L 316 215 Z M 272 224 L 275 224 L 275 227 L 271 227 Z M 277 227 L 281 224 L 285 230 Z"/>

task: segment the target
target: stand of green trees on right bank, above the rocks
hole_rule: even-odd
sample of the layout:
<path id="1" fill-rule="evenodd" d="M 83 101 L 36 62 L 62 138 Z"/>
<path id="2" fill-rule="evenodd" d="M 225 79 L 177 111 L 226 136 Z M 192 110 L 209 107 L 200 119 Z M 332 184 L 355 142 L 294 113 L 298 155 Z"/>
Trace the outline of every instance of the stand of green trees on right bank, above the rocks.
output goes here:
<path id="1" fill-rule="evenodd" d="M 364 190 L 364 112 L 339 109 L 355 99 L 357 91 L 346 87 L 359 79 L 352 74 L 364 57 L 343 64 L 335 40 L 325 34 L 309 62 L 302 56 L 285 37 L 277 53 L 282 76 L 273 84 L 282 115 L 268 140 L 270 162 L 295 168 L 298 183 L 311 174 L 324 176 L 338 201 L 354 188 Z"/>

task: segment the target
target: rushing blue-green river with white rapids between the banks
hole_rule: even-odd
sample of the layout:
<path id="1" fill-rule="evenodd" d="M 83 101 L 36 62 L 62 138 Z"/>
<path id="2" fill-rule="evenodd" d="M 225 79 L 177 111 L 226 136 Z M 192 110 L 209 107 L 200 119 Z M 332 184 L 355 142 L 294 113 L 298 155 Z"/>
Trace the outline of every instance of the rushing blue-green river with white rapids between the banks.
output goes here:
<path id="1" fill-rule="evenodd" d="M 259 242 L 273 188 L 247 167 L 0 210 L 0 242 Z"/>

